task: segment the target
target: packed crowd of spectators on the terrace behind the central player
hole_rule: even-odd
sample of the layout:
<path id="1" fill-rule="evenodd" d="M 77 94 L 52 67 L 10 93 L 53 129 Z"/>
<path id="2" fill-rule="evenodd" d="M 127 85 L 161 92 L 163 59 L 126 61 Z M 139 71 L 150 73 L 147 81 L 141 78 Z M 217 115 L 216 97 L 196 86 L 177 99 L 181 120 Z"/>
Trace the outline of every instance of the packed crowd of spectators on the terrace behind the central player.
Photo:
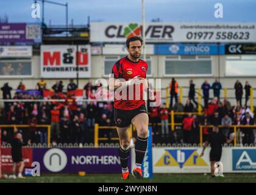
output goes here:
<path id="1" fill-rule="evenodd" d="M 47 143 L 47 131 L 44 127 L 35 127 L 37 124 L 51 125 L 51 143 L 57 144 L 90 144 L 94 139 L 94 124 L 99 126 L 115 126 L 113 121 L 113 102 L 96 102 L 93 101 L 95 91 L 98 87 L 94 87 L 91 83 L 87 83 L 84 87 L 84 94 L 90 102 L 70 101 L 76 97 L 68 95 L 63 91 L 77 90 L 76 84 L 71 80 L 67 87 L 64 87 L 61 81 L 57 81 L 51 87 L 51 93 L 44 95 L 46 82 L 41 80 L 38 82 L 36 90 L 26 90 L 24 83 L 20 83 L 16 90 L 9 87 L 7 83 L 1 88 L 3 99 L 17 99 L 17 102 L 4 102 L 1 109 L 1 124 L 26 124 L 29 128 L 18 128 L 23 132 L 24 140 L 31 140 L 32 143 Z M 13 93 L 14 91 L 14 93 Z M 30 91 L 27 92 L 27 91 Z M 31 93 L 33 91 L 33 93 Z M 37 92 L 35 92 L 37 91 Z M 49 91 L 48 91 L 49 92 Z M 12 97 L 12 94 L 14 96 Z M 51 97 L 49 97 L 49 94 Z M 74 94 L 73 94 L 74 95 Z M 65 99 L 64 102 L 24 102 L 21 100 L 28 99 Z M 205 106 L 204 113 L 198 115 L 197 104 L 193 104 L 190 99 L 183 105 L 176 102 L 172 107 L 168 108 L 168 124 L 171 120 L 169 112 L 186 113 L 185 115 L 175 115 L 174 121 L 180 125 L 176 125 L 174 131 L 171 131 L 170 124 L 165 129 L 163 123 L 161 107 L 149 107 L 149 122 L 152 126 L 152 135 L 154 144 L 199 144 L 199 126 L 222 126 L 221 132 L 229 137 L 233 132 L 231 125 L 254 125 L 254 113 L 249 107 L 241 107 L 239 104 L 231 105 L 228 99 L 218 101 L 218 98 L 210 100 Z M 193 115 L 191 114 L 193 113 Z M 8 144 L 13 137 L 13 127 L 2 128 L 2 143 Z M 210 133 L 210 127 L 203 128 L 203 141 Z M 255 144 L 256 136 L 253 128 L 238 128 L 237 141 L 238 144 Z M 135 136 L 135 135 L 134 135 Z M 105 143 L 117 143 L 110 140 L 111 137 L 117 137 L 115 130 L 101 130 L 99 137 L 108 138 Z"/>

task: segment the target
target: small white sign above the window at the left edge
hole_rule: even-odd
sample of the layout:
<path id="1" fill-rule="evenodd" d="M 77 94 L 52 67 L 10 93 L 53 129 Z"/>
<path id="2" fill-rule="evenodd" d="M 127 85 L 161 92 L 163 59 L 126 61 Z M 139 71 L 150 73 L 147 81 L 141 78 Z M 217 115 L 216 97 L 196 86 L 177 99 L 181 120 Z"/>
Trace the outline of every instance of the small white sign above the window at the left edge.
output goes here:
<path id="1" fill-rule="evenodd" d="M 0 46 L 0 58 L 32 57 L 32 46 Z"/>

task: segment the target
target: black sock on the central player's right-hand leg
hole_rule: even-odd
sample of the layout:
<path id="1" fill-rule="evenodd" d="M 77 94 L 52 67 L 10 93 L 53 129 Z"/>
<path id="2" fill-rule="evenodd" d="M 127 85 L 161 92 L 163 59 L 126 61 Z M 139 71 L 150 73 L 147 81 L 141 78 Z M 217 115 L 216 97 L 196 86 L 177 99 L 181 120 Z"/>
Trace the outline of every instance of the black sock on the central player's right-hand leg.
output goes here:
<path id="1" fill-rule="evenodd" d="M 148 138 L 137 137 L 135 143 L 135 164 L 141 165 L 148 146 Z"/>

